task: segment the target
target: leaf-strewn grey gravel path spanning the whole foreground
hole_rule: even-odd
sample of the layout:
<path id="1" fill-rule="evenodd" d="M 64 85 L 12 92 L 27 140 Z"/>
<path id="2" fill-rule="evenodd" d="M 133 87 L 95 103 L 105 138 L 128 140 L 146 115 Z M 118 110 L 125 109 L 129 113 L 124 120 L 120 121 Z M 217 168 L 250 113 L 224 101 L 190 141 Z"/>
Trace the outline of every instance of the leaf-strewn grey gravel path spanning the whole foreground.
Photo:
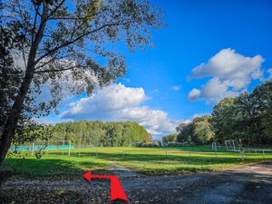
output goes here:
<path id="1" fill-rule="evenodd" d="M 115 165 L 129 202 L 110 201 L 110 181 L 8 181 L 2 203 L 272 203 L 272 161 L 213 173 L 146 177 Z M 10 199 L 12 198 L 12 199 Z M 19 199 L 18 199 L 19 198 Z"/>

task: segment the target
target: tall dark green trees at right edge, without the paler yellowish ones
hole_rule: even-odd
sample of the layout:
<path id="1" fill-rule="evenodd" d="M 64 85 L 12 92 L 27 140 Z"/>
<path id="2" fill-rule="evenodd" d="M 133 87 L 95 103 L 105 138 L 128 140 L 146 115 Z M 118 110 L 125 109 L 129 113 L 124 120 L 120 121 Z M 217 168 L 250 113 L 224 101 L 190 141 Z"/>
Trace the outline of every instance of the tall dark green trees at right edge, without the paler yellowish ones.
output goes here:
<path id="1" fill-rule="evenodd" d="M 215 140 L 234 139 L 248 144 L 272 143 L 272 82 L 267 81 L 234 99 L 225 98 L 213 108 Z"/>

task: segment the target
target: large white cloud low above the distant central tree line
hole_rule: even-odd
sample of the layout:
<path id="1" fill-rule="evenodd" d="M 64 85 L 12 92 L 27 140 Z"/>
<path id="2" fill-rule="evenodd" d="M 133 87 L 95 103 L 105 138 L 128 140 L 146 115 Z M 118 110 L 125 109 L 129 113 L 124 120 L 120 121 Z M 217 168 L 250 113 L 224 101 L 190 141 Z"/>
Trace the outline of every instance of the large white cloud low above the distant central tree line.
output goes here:
<path id="1" fill-rule="evenodd" d="M 148 100 L 142 88 L 112 84 L 91 97 L 69 104 L 69 111 L 62 113 L 63 119 L 136 121 L 154 136 L 175 132 L 179 120 L 168 119 L 167 112 L 141 105 Z"/>

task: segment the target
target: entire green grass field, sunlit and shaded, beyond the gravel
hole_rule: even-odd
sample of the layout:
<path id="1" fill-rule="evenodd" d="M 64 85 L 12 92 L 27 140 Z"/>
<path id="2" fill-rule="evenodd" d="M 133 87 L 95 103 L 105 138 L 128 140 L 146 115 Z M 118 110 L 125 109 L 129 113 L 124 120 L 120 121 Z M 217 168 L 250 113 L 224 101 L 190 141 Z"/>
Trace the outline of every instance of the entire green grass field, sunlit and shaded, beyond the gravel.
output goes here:
<path id="1" fill-rule="evenodd" d="M 24 155 L 24 152 L 22 152 Z M 30 155 L 30 152 L 28 152 Z M 187 174 L 191 172 L 225 170 L 234 166 L 272 160 L 272 151 L 247 151 L 245 160 L 239 152 L 217 152 L 211 147 L 151 147 L 151 148 L 99 148 L 75 149 L 68 152 L 49 151 L 37 160 L 24 155 L 24 159 L 6 159 L 4 170 L 15 170 L 15 179 L 75 180 L 81 179 L 86 170 L 104 174 L 114 163 L 146 175 Z"/>

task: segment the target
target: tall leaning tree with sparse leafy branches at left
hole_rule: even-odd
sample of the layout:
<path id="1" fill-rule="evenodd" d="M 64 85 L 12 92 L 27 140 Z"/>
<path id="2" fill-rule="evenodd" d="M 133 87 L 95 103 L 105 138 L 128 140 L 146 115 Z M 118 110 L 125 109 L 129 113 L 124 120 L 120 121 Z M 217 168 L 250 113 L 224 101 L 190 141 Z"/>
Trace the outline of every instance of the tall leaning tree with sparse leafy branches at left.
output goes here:
<path id="1" fill-rule="evenodd" d="M 58 112 L 63 91 L 90 94 L 114 82 L 126 73 L 115 43 L 144 50 L 152 45 L 150 30 L 165 26 L 164 12 L 146 0 L 6 0 L 0 7 L 0 56 L 13 59 L 1 69 L 15 67 L 7 81 L 5 72 L 0 75 L 1 89 L 10 84 L 1 101 L 7 105 L 1 110 L 0 168 L 22 113 L 32 118 Z M 16 73 L 22 74 L 17 81 Z M 52 98 L 35 102 L 44 86 Z"/>

